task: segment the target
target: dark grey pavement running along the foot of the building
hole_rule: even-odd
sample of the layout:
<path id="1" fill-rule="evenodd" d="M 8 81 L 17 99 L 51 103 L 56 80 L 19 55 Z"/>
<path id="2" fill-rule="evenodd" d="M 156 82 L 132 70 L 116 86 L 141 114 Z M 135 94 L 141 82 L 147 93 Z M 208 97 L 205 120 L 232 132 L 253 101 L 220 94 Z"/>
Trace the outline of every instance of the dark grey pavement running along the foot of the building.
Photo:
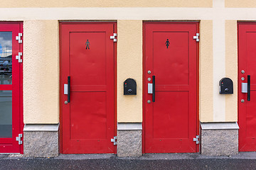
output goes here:
<path id="1" fill-rule="evenodd" d="M 0 154 L 0 169 L 256 169 L 256 152 L 208 157 L 201 154 L 60 154 L 55 158 Z"/>

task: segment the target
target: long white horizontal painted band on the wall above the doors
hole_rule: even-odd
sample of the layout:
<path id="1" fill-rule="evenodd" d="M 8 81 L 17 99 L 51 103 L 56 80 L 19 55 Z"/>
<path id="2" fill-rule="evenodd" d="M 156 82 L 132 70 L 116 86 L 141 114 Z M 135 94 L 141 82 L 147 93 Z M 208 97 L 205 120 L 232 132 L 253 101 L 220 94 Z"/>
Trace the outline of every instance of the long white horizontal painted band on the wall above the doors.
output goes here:
<path id="1" fill-rule="evenodd" d="M 216 5 L 218 6 L 218 5 Z M 255 20 L 256 8 L 0 8 L 1 21 Z M 184 12 L 186 11 L 186 12 Z M 166 13 L 168 15 L 166 15 Z"/>

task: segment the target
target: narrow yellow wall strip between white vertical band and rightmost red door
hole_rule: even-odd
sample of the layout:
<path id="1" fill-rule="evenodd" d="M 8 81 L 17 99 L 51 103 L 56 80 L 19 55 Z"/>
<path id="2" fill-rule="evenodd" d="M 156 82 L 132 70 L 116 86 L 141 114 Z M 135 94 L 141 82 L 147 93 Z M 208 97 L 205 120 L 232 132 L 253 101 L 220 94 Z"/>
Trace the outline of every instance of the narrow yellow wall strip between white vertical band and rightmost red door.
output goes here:
<path id="1" fill-rule="evenodd" d="M 225 121 L 238 121 L 238 33 L 237 21 L 225 21 L 225 73 L 233 80 L 234 94 L 225 96 Z"/>

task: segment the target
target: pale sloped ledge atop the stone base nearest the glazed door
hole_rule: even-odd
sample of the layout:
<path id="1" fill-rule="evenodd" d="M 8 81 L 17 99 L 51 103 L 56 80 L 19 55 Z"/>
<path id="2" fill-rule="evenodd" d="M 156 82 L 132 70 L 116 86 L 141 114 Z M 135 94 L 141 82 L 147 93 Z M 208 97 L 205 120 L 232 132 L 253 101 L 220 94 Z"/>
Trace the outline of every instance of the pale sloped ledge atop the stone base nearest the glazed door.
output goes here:
<path id="1" fill-rule="evenodd" d="M 46 132 L 58 132 L 59 124 L 51 125 L 36 125 L 36 124 L 26 124 L 23 128 L 24 132 L 31 131 L 46 131 Z"/>

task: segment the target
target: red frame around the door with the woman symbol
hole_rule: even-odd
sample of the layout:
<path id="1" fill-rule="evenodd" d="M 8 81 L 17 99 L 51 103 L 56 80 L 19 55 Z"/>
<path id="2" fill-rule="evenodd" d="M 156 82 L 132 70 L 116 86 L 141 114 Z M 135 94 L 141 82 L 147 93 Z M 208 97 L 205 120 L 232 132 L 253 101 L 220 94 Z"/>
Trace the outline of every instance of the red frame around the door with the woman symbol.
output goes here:
<path id="1" fill-rule="evenodd" d="M 142 91 L 143 91 L 143 97 L 142 97 L 142 107 L 143 107 L 143 120 L 142 120 L 142 154 L 145 154 L 145 104 L 146 100 L 144 97 L 144 94 L 147 93 L 146 89 L 144 88 L 145 85 L 145 25 L 146 23 L 155 23 L 155 24 L 161 24 L 161 23 L 193 23 L 197 24 L 197 33 L 199 33 L 199 21 L 195 22 L 187 22 L 187 21 L 144 21 L 143 22 L 143 83 L 142 83 Z M 197 68 L 197 73 L 196 73 L 196 82 L 197 82 L 197 88 L 196 88 L 196 135 L 200 135 L 200 130 L 199 130 L 199 43 L 196 45 L 196 68 Z M 199 145 L 196 146 L 196 152 L 199 152 Z"/>

